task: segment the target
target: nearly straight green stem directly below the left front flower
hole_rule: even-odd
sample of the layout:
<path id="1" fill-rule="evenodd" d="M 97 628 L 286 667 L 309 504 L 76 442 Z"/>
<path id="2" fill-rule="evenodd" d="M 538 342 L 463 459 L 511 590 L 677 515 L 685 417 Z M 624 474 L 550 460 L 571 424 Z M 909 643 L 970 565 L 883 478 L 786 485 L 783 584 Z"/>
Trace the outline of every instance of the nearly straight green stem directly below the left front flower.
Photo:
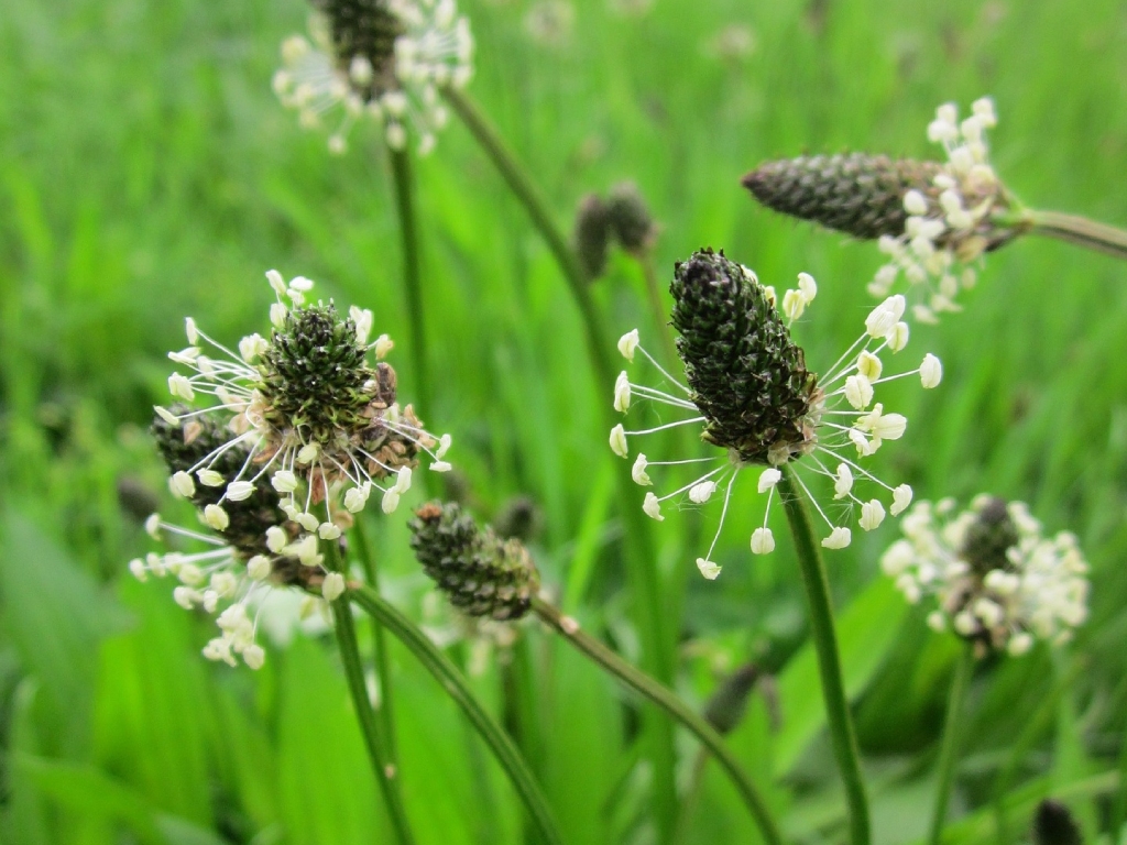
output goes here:
<path id="1" fill-rule="evenodd" d="M 325 554 L 326 568 L 329 571 L 341 572 L 344 575 L 337 541 L 322 541 L 321 551 Z M 361 665 L 360 643 L 356 640 L 356 623 L 353 620 L 348 592 L 345 592 L 331 605 L 332 628 L 337 635 L 337 647 L 340 649 L 340 662 L 345 668 L 348 692 L 352 695 L 353 708 L 356 711 L 361 733 L 364 736 L 364 746 L 367 748 L 367 756 L 372 763 L 372 772 L 375 775 L 376 783 L 380 785 L 380 792 L 383 794 L 388 816 L 391 819 L 391 827 L 396 834 L 396 842 L 399 845 L 412 845 L 415 837 L 411 834 L 407 811 L 403 808 L 402 794 L 399 790 L 399 770 L 391 763 L 388 756 L 388 749 L 380 737 L 380 728 L 375 721 L 375 711 L 372 709 L 372 701 L 367 696 L 367 684 L 364 683 L 364 668 Z"/>

